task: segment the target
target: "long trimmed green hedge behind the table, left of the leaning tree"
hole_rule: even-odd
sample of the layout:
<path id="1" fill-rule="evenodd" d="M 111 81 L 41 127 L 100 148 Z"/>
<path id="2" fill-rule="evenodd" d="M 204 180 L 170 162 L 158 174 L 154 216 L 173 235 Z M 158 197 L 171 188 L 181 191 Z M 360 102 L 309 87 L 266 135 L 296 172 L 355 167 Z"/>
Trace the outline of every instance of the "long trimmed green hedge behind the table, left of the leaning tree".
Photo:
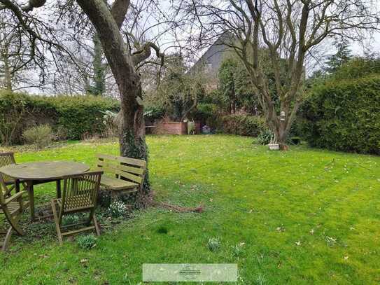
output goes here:
<path id="1" fill-rule="evenodd" d="M 41 124 L 64 132 L 66 139 L 101 134 L 107 110 L 118 112 L 120 103 L 90 95 L 46 97 L 0 90 L 0 142 L 19 144 L 23 130 Z"/>

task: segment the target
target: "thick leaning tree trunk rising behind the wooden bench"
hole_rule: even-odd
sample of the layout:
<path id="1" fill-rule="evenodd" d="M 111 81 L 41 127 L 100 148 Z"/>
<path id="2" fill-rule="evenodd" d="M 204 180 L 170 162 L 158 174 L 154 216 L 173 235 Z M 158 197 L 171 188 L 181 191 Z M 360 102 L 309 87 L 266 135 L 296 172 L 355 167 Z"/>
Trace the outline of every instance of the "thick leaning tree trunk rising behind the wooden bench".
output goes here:
<path id="1" fill-rule="evenodd" d="M 119 31 L 125 13 L 121 13 L 120 19 L 116 22 L 120 9 L 115 9 L 115 15 L 112 15 L 106 2 L 102 0 L 77 0 L 77 2 L 97 30 L 104 55 L 120 92 L 122 115 L 119 135 L 120 155 L 148 162 L 143 106 L 139 104 L 142 92 L 140 76 L 134 69 L 132 55 L 127 52 Z M 126 7 L 122 2 L 115 1 L 116 4 Z M 144 194 L 149 191 L 148 174 L 143 191 Z"/>

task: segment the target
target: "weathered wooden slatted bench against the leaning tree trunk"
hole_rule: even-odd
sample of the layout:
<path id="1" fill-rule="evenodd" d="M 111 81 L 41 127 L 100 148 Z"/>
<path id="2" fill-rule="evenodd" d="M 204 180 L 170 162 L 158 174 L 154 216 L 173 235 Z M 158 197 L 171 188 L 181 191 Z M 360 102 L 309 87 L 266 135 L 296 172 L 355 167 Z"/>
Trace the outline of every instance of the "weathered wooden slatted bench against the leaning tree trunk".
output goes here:
<path id="1" fill-rule="evenodd" d="M 97 155 L 97 170 L 104 172 L 100 185 L 113 196 L 142 190 L 146 161 L 114 155 Z"/>

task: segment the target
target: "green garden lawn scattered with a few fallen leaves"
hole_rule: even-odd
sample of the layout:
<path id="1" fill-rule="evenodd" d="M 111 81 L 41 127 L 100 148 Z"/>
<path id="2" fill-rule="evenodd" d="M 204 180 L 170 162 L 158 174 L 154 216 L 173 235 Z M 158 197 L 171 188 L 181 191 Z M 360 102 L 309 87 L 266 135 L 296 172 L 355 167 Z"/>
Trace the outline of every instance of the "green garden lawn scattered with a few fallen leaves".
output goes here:
<path id="1" fill-rule="evenodd" d="M 379 284 L 379 157 L 304 146 L 269 152 L 250 138 L 220 135 L 148 137 L 148 145 L 156 199 L 202 203 L 204 213 L 140 211 L 91 251 L 71 241 L 61 247 L 53 225 L 40 227 L 40 239 L 17 237 L 0 253 L 0 283 L 139 284 L 143 263 L 238 263 L 239 284 Z M 95 153 L 117 154 L 118 144 L 16 159 L 94 165 Z M 38 202 L 55 193 L 50 185 L 35 192 Z M 220 239 L 219 251 L 207 249 L 210 237 Z"/>

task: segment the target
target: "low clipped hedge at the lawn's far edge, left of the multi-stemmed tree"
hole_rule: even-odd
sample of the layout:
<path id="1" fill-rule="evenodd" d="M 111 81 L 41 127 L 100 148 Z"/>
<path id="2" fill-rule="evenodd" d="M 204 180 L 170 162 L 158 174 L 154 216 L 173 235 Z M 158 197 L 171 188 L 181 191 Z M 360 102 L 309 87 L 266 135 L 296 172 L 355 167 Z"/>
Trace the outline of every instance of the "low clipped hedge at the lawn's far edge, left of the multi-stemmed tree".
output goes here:
<path id="1" fill-rule="evenodd" d="M 257 137 L 267 129 L 265 120 L 259 116 L 228 115 L 221 118 L 220 130 L 226 134 Z"/>

